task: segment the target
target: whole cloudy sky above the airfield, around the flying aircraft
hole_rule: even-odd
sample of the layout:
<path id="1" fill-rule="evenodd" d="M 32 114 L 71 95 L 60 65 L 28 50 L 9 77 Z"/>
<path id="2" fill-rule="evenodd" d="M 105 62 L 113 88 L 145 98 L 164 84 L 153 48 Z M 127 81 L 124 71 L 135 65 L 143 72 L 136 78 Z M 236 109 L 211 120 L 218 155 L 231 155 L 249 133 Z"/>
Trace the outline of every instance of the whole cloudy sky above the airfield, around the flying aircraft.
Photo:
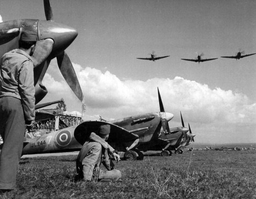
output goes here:
<path id="1" fill-rule="evenodd" d="M 85 97 L 84 120 L 159 112 L 157 87 L 170 127 L 190 123 L 196 142 L 256 142 L 254 0 L 52 0 L 54 21 L 78 36 L 66 49 Z M 11 11 L 11 12 L 10 12 Z M 0 21 L 45 20 L 43 0 L 1 0 Z M 156 62 L 138 60 L 170 57 Z M 194 63 L 181 58 L 219 58 Z M 42 103 L 64 98 L 69 113 L 81 102 L 52 60 Z M 54 106 L 52 106 L 54 107 Z"/>

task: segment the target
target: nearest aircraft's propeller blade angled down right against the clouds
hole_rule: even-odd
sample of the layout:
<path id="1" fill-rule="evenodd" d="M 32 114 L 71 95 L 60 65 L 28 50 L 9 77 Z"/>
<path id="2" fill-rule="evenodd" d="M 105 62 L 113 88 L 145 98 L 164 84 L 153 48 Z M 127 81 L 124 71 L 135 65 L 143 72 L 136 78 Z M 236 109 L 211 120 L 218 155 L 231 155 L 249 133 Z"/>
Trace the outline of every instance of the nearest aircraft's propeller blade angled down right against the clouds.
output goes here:
<path id="1" fill-rule="evenodd" d="M 75 74 L 73 65 L 65 51 L 57 56 L 57 62 L 62 76 L 69 84 L 69 87 L 73 90 L 78 99 L 82 102 L 84 98 L 83 92 Z"/>

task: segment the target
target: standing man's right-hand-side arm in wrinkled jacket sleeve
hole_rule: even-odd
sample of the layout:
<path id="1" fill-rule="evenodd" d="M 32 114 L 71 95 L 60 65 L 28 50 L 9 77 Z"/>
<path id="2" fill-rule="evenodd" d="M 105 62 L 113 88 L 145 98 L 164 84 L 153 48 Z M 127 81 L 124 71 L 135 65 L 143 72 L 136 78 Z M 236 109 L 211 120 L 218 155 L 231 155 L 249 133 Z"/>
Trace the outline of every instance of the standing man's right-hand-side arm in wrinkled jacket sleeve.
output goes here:
<path id="1" fill-rule="evenodd" d="M 34 64 L 27 60 L 19 70 L 19 94 L 22 100 L 26 124 L 31 124 L 35 118 Z"/>

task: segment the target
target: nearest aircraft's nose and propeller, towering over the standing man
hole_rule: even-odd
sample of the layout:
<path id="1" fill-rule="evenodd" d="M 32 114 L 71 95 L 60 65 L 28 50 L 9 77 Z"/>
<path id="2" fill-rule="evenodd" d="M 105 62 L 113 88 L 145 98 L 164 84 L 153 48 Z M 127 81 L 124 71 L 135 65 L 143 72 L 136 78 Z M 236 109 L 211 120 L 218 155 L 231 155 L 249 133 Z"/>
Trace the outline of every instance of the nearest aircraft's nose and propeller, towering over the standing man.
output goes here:
<path id="1" fill-rule="evenodd" d="M 3 5 L 2 5 L 3 6 Z M 50 0 L 44 0 L 46 20 L 16 19 L 0 23 L 0 57 L 4 53 L 19 48 L 19 36 L 22 30 L 30 30 L 37 35 L 38 40 L 32 55 L 34 61 L 35 102 L 40 102 L 47 94 L 42 80 L 53 58 L 57 63 L 69 87 L 80 101 L 83 93 L 78 82 L 72 63 L 64 51 L 78 35 L 77 31 L 64 24 L 53 21 L 53 11 Z"/>

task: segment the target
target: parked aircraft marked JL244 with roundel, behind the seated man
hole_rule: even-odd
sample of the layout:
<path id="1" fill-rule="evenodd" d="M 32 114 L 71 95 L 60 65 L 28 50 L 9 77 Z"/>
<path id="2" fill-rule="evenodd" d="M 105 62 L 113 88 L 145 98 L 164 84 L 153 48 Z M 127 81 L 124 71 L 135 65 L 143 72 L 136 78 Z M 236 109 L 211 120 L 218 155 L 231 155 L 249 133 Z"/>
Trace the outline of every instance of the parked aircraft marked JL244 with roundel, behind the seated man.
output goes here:
<path id="1" fill-rule="evenodd" d="M 142 160 L 143 154 L 137 145 L 158 140 L 160 130 L 169 133 L 172 113 L 165 112 L 158 90 L 160 112 L 134 115 L 112 121 L 85 121 L 52 133 L 45 133 L 37 138 L 26 138 L 22 154 L 78 151 L 91 132 L 96 132 L 100 125 L 109 124 L 108 143 L 118 151 L 124 151 L 125 159 Z M 170 132 L 171 133 L 171 132 Z"/>

